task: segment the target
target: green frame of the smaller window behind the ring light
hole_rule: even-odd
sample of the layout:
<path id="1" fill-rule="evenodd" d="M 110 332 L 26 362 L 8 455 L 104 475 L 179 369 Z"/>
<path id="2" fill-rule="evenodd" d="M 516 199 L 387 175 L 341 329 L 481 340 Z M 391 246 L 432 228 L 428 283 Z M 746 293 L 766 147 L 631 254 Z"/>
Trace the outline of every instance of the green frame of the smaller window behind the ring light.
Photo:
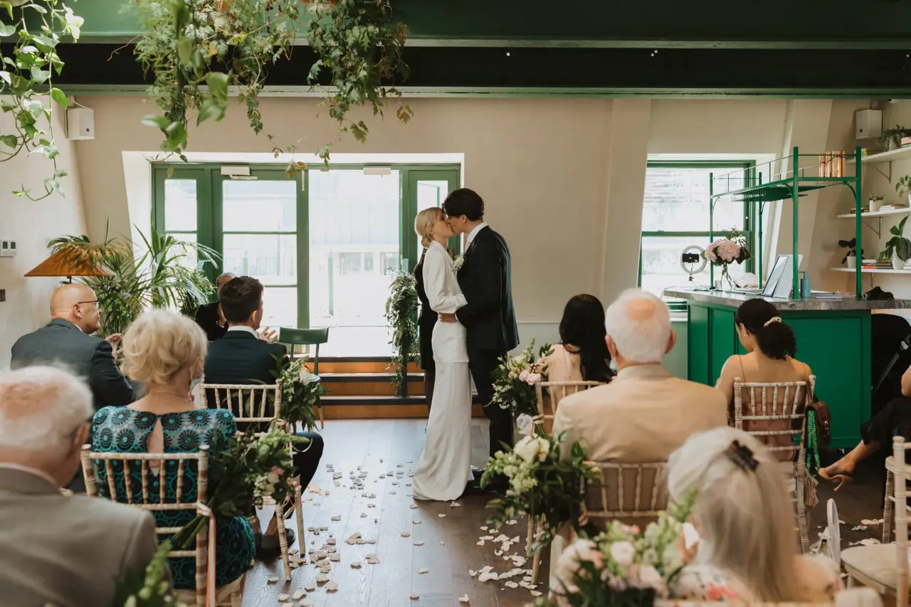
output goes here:
<path id="1" fill-rule="evenodd" d="M 646 165 L 646 170 L 649 169 L 711 169 L 713 171 L 713 177 L 718 178 L 722 175 L 732 173 L 736 170 L 743 171 L 744 183 L 748 182 L 747 180 L 752 178 L 753 173 L 755 172 L 756 163 L 754 160 L 650 160 Z M 705 190 L 705 199 L 709 201 L 709 190 Z M 711 201 L 710 201 L 711 203 Z M 739 202 L 719 200 L 716 201 L 716 204 L 738 204 Z M 747 242 L 750 242 L 751 247 L 754 249 L 754 239 L 756 233 L 756 226 L 754 224 L 754 218 L 757 215 L 756 202 L 743 201 L 743 234 L 747 239 Z M 643 210 L 644 211 L 644 210 Z M 710 238 L 709 232 L 709 216 L 708 212 L 705 217 L 705 231 L 665 231 L 665 230 L 645 230 L 644 226 L 640 233 L 639 241 L 639 272 L 637 275 L 637 286 L 642 286 L 642 242 L 648 238 L 667 238 L 667 237 L 681 237 L 681 238 Z M 715 231 L 715 238 L 718 238 L 719 231 Z M 754 271 L 754 260 L 750 259 L 746 262 L 745 267 L 747 272 Z M 686 302 L 679 301 L 668 301 L 668 307 L 671 311 L 685 311 L 687 308 Z"/>

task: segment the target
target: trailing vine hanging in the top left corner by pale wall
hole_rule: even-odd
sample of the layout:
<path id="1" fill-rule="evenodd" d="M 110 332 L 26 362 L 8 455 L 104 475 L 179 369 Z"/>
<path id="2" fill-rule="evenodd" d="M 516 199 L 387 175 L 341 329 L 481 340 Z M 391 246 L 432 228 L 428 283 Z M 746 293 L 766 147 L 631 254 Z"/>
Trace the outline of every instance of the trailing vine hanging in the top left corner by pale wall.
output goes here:
<path id="1" fill-rule="evenodd" d="M 5 10 L 2 10 L 5 9 Z M 67 108 L 69 100 L 54 87 L 63 61 L 56 47 L 62 36 L 79 38 L 83 19 L 63 0 L 27 2 L 13 10 L 12 3 L 0 0 L 0 37 L 13 38 L 11 46 L 0 48 L 0 110 L 9 114 L 8 129 L 0 130 L 0 162 L 14 159 L 20 152 L 40 154 L 51 161 L 53 173 L 44 180 L 44 192 L 36 196 L 23 185 L 16 196 L 33 201 L 63 193 L 60 179 L 67 171 L 57 167 L 60 150 L 55 144 L 53 105 Z M 46 121 L 46 125 L 44 124 Z"/>

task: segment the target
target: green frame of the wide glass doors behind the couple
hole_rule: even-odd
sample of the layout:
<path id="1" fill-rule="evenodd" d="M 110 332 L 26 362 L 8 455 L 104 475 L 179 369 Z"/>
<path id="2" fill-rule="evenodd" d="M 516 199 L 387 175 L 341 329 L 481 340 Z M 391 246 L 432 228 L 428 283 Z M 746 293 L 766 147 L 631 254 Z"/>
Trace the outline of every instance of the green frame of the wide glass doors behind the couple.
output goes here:
<path id="1" fill-rule="evenodd" d="M 200 163 L 152 163 L 152 222 L 158 231 L 186 237 L 193 233 L 189 230 L 166 230 L 165 226 L 165 188 L 167 180 L 193 180 L 196 184 L 196 241 L 211 247 L 220 255 L 224 254 L 224 234 L 222 231 L 222 182 L 230 181 L 230 176 L 221 175 L 223 166 L 243 166 L 250 168 L 251 177 L 257 180 L 293 180 L 297 192 L 297 223 L 293 233 L 297 236 L 297 326 L 310 326 L 310 204 L 309 175 L 312 170 L 327 170 L 319 165 L 299 171 L 293 178 L 285 174 L 284 164 L 272 163 L 239 163 L 239 162 L 200 162 Z M 333 163 L 328 170 L 363 170 L 368 167 L 389 167 L 399 173 L 399 251 L 407 259 L 408 271 L 414 271 L 418 261 L 418 242 L 415 235 L 415 213 L 418 207 L 418 184 L 421 181 L 445 181 L 448 191 L 455 190 L 461 183 L 462 167 L 459 164 L 349 164 Z M 445 198 L 447 192 L 441 192 Z M 442 202 L 442 198 L 439 202 Z M 269 233 L 269 232 L 256 232 Z M 279 232 L 274 232 L 278 234 Z M 458 239 L 450 242 L 451 247 L 458 247 Z M 205 273 L 210 280 L 222 272 L 217 266 L 209 264 Z M 294 286 L 294 285 L 289 285 Z"/>

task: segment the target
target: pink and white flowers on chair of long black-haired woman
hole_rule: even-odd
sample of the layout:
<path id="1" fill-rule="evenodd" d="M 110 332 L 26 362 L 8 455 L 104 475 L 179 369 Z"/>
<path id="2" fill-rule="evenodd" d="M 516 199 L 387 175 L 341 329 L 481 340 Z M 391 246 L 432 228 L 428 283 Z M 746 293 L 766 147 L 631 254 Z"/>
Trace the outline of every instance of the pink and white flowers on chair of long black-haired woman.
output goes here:
<path id="1" fill-rule="evenodd" d="M 508 409 L 513 419 L 520 416 L 537 417 L 537 393 L 535 386 L 541 383 L 541 378 L 548 372 L 547 365 L 538 361 L 551 354 L 550 345 L 540 347 L 537 358 L 532 353 L 535 349 L 535 340 L 527 345 L 522 354 L 517 356 L 506 355 L 500 359 L 500 365 L 491 375 L 494 377 L 494 397 L 487 406 L 500 406 Z M 520 424 L 526 426 L 526 424 Z M 538 434 L 547 437 L 544 428 L 537 425 Z"/>

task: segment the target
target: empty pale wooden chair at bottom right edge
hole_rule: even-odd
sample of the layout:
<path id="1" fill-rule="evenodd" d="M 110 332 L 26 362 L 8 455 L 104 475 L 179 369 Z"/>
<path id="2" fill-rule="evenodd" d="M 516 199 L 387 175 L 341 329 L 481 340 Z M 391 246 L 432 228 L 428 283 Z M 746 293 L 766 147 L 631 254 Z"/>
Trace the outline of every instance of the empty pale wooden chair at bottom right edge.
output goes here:
<path id="1" fill-rule="evenodd" d="M 907 479 L 911 468 L 905 463 L 906 450 L 911 448 L 903 437 L 894 437 L 891 472 L 893 494 L 886 494 L 895 511 L 896 541 L 873 546 L 855 546 L 842 551 L 844 571 L 848 579 L 860 581 L 880 594 L 896 597 L 896 607 L 908 604 L 908 510 Z M 889 468 L 889 465 L 886 466 Z M 885 522 L 884 522 L 885 525 Z M 884 531 L 885 534 L 888 531 Z"/>

